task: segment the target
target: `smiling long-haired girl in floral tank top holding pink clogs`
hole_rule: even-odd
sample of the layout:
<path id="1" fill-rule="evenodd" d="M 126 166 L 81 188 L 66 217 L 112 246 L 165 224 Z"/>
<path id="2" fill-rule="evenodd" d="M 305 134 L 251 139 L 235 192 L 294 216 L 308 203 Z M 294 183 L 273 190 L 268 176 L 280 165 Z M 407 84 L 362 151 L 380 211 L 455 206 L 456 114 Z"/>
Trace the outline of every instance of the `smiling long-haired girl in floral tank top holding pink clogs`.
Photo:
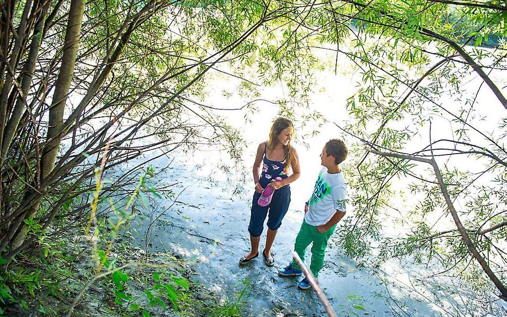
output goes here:
<path id="1" fill-rule="evenodd" d="M 300 176 L 298 153 L 291 146 L 293 133 L 294 125 L 291 120 L 278 118 L 271 126 L 269 140 L 261 143 L 257 149 L 257 156 L 253 163 L 253 180 L 256 192 L 253 194 L 250 224 L 248 225 L 251 251 L 239 260 L 240 265 L 259 256 L 259 241 L 266 216 L 268 216 L 268 233 L 263 257 L 267 266 L 274 265 L 275 260 L 271 254 L 271 246 L 283 216 L 287 212 L 288 204 L 291 202 L 291 188 L 288 184 L 296 181 Z M 289 166 L 292 167 L 290 176 L 288 176 Z M 261 169 L 262 173 L 259 177 Z M 271 202 L 262 207 L 258 204 L 258 200 L 267 186 L 272 187 L 275 191 Z"/>

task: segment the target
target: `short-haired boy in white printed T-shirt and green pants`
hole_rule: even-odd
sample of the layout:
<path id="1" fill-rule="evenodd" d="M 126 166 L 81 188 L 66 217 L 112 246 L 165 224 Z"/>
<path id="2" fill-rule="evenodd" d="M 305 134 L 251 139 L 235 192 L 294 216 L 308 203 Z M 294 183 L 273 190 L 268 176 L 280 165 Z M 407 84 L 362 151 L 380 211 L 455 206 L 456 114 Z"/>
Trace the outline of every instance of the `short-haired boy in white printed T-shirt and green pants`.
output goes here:
<path id="1" fill-rule="evenodd" d="M 313 194 L 305 203 L 305 218 L 301 224 L 294 250 L 302 260 L 305 259 L 307 246 L 312 245 L 310 270 L 315 277 L 324 263 L 324 251 L 328 240 L 335 231 L 336 224 L 345 216 L 345 195 L 347 185 L 339 166 L 347 158 L 347 147 L 339 139 L 331 139 L 325 144 L 320 154 L 320 171 Z M 278 271 L 281 276 L 301 275 L 303 271 L 293 260 L 289 265 Z M 309 289 L 308 278 L 303 278 L 298 287 Z"/>

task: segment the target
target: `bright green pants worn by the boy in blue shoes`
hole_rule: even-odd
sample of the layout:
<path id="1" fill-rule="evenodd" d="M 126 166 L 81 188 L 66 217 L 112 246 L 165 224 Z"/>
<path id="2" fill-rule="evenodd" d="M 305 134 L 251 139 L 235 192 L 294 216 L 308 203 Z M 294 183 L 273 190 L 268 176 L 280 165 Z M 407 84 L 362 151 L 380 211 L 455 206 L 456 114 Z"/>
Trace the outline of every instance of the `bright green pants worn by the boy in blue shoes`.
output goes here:
<path id="1" fill-rule="evenodd" d="M 306 248 L 310 243 L 312 245 L 312 262 L 310 263 L 310 271 L 312 271 L 315 277 L 318 276 L 318 272 L 324 264 L 324 251 L 328 246 L 328 240 L 335 232 L 336 225 L 331 227 L 328 231 L 320 233 L 317 231 L 317 226 L 312 226 L 303 220 L 301 229 L 299 229 L 298 236 L 296 237 L 296 243 L 294 244 L 294 251 L 299 254 L 301 260 L 305 260 Z M 296 260 L 292 260 L 293 268 L 301 269 Z"/>

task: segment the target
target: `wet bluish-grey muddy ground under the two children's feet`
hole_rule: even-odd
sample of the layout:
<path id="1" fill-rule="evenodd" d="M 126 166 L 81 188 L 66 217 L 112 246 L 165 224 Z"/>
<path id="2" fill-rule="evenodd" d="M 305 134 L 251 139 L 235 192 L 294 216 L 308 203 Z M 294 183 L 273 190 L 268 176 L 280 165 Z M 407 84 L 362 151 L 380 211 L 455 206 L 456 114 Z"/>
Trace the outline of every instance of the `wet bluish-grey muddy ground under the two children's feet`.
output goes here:
<path id="1" fill-rule="evenodd" d="M 163 221 L 151 229 L 149 250 L 170 250 L 188 261 L 198 274 L 194 279 L 216 292 L 222 300 L 236 300 L 237 293 L 244 288 L 242 280 L 248 280 L 251 287 L 247 296 L 241 299 L 246 302 L 245 316 L 324 315 L 316 295 L 311 290 L 297 288 L 297 278 L 276 274 L 291 260 L 294 240 L 303 219 L 298 205 L 291 203 L 278 230 L 272 249 L 275 266 L 267 267 L 259 257 L 240 267 L 238 260 L 249 248 L 246 227 L 250 201 L 233 195 L 228 182 L 217 181 L 212 176 L 204 177 L 206 173 L 208 176 L 216 173 L 204 168 L 195 169 L 191 162 L 183 162 L 183 158 L 183 154 L 179 155 L 179 159 L 157 177 L 159 186 L 179 182 L 173 187 L 179 196 L 171 208 L 172 200 L 157 203 L 156 215 L 164 207 L 167 212 Z M 153 164 L 163 168 L 167 161 L 157 159 Z M 141 246 L 146 243 L 146 228 L 144 223 L 137 229 L 140 233 L 137 243 Z M 264 241 L 265 235 L 261 238 L 261 250 Z M 467 316 L 507 315 L 498 302 L 491 307 L 485 304 L 483 307 L 467 306 L 470 303 L 466 296 L 472 293 L 460 293 L 463 287 L 460 281 L 442 280 L 440 287 L 421 284 L 417 277 L 424 268 L 394 260 L 388 261 L 384 270 L 373 274 L 371 269 L 357 267 L 354 260 L 343 256 L 333 244 L 330 243 L 327 250 L 319 283 L 339 315 L 346 315 L 351 309 L 359 315 L 371 316 L 454 316 L 458 308 L 461 312 L 468 311 L 463 314 Z M 309 260 L 308 255 L 306 261 Z M 351 308 L 352 300 L 348 297 L 352 295 L 358 296 L 364 311 Z M 435 296 L 438 300 L 434 300 Z"/>

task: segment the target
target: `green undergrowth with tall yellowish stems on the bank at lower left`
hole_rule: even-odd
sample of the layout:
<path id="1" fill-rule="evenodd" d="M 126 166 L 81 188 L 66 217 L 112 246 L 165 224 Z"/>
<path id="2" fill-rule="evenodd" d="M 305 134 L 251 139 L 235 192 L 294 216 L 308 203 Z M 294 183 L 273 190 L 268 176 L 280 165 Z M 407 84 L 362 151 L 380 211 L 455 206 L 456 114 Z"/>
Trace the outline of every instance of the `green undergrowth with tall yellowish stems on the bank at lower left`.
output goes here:
<path id="1" fill-rule="evenodd" d="M 32 250 L 11 263 L 0 258 L 5 268 L 0 275 L 0 316 L 148 317 L 164 311 L 180 316 L 240 316 L 247 282 L 243 281 L 235 301 L 218 302 L 215 294 L 193 283 L 190 262 L 132 245 L 132 224 L 151 221 L 149 194 L 162 198 L 151 181 L 155 169 L 143 169 L 130 195 L 116 203 L 101 196 L 106 184 L 102 172 L 102 168 L 95 171 L 85 228 L 73 228 L 67 219 L 43 232 L 30 219 L 27 230 L 39 237 Z M 109 212 L 104 214 L 104 210 Z M 67 234 L 50 238 L 51 233 L 65 229 Z"/>

